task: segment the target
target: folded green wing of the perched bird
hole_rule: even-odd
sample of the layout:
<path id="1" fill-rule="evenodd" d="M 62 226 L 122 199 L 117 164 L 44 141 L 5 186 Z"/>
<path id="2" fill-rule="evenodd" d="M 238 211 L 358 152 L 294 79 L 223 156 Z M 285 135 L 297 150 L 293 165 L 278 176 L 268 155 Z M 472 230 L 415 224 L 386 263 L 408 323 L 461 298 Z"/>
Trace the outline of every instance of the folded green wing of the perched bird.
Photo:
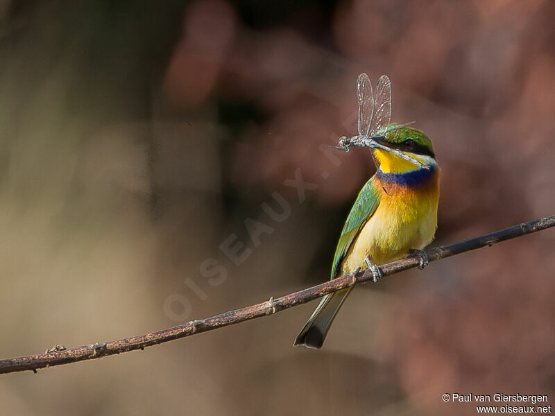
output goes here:
<path id="1" fill-rule="evenodd" d="M 345 225 L 343 225 L 343 231 L 335 250 L 332 279 L 339 272 L 339 265 L 343 261 L 345 254 L 349 251 L 352 242 L 355 241 L 366 221 L 374 215 L 378 205 L 379 193 L 377 193 L 374 186 L 374 177 L 370 177 L 370 180 L 360 190 L 355 205 L 352 206 Z"/>

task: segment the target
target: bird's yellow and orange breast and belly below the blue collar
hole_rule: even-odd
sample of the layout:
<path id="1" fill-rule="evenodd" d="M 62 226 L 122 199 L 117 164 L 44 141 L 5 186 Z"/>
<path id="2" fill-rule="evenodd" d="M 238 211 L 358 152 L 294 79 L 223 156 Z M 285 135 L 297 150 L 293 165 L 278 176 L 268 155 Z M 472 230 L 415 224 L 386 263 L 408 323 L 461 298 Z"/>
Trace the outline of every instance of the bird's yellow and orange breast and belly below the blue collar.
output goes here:
<path id="1" fill-rule="evenodd" d="M 366 268 L 364 259 L 384 264 L 421 249 L 433 239 L 437 227 L 438 175 L 425 187 L 405 187 L 375 178 L 380 202 L 373 216 L 353 241 L 341 263 L 343 274 Z"/>

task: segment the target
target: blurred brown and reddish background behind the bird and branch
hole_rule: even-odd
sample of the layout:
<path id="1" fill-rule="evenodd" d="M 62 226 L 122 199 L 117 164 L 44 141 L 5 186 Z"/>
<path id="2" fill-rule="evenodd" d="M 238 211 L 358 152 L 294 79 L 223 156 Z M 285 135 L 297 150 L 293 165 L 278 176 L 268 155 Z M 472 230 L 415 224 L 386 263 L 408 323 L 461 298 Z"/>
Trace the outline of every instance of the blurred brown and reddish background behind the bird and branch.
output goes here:
<path id="1" fill-rule="evenodd" d="M 329 147 L 356 132 L 362 71 L 387 73 L 393 121 L 434 141 L 433 244 L 554 214 L 554 19 L 549 0 L 0 0 L 1 358 L 328 279 L 375 171 L 368 150 Z M 2 412 L 473 415 L 441 395 L 553 400 L 554 243 L 548 230 L 361 286 L 319 351 L 291 347 L 312 302 L 4 375 Z"/>

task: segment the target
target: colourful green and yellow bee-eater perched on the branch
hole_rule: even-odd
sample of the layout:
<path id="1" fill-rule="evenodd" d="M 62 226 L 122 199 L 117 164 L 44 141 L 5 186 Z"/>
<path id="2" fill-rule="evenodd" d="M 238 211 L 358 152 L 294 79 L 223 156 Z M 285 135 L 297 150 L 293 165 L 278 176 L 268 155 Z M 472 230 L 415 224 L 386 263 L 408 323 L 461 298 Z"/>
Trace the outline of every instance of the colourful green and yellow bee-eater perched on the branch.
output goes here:
<path id="1" fill-rule="evenodd" d="M 380 131 L 371 137 L 375 146 L 370 150 L 377 171 L 359 192 L 345 220 L 332 279 L 370 269 L 377 282 L 382 277 L 377 266 L 407 254 L 418 255 L 420 268 L 428 263 L 422 249 L 436 233 L 440 175 L 432 140 L 408 125 L 391 123 Z M 325 295 L 293 345 L 322 347 L 351 291 L 352 287 Z"/>

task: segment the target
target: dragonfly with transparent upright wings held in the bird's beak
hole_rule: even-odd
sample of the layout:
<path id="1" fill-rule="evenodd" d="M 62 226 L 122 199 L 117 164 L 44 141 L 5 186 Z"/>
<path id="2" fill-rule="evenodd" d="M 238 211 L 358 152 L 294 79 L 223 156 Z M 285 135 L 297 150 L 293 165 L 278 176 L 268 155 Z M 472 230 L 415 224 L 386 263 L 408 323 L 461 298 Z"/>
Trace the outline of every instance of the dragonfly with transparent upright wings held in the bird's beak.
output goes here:
<path id="1" fill-rule="evenodd" d="M 357 95 L 359 101 L 359 134 L 352 137 L 339 137 L 335 148 L 345 150 L 345 152 L 348 152 L 352 146 L 379 148 L 402 157 L 402 159 L 421 168 L 428 168 L 419 160 L 375 141 L 378 137 L 384 137 L 387 132 L 412 124 L 389 124 L 391 121 L 391 80 L 389 80 L 389 77 L 386 75 L 379 77 L 374 94 L 370 77 L 364 72 L 361 73 L 357 78 Z"/>

